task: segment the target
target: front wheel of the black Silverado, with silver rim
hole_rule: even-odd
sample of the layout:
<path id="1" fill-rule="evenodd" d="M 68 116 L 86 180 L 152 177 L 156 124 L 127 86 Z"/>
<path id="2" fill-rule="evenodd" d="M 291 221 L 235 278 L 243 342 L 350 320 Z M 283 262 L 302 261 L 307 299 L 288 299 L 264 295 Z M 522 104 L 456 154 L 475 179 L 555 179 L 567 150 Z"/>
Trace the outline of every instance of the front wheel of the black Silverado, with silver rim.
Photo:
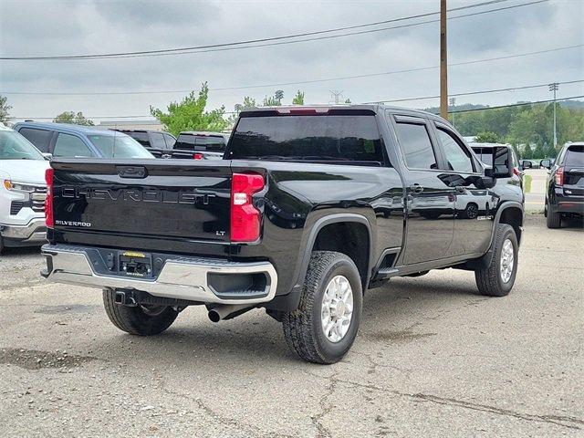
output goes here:
<path id="1" fill-rule="evenodd" d="M 511 225 L 498 224 L 489 266 L 474 271 L 478 291 L 488 297 L 505 297 L 511 292 L 517 275 L 518 249 Z"/>

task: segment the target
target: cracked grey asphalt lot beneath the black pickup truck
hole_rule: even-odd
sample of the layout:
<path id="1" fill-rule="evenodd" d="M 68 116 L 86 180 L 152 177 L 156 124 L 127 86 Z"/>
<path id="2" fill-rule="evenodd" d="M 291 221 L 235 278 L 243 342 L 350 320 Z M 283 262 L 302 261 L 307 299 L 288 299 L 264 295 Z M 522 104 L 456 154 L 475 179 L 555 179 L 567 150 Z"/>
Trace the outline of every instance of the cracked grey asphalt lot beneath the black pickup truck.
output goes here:
<path id="1" fill-rule="evenodd" d="M 472 273 L 370 291 L 349 355 L 316 366 L 255 310 L 186 309 L 137 338 L 96 289 L 45 283 L 36 250 L 0 256 L 2 436 L 582 436 L 584 233 L 527 216 L 516 287 Z"/>

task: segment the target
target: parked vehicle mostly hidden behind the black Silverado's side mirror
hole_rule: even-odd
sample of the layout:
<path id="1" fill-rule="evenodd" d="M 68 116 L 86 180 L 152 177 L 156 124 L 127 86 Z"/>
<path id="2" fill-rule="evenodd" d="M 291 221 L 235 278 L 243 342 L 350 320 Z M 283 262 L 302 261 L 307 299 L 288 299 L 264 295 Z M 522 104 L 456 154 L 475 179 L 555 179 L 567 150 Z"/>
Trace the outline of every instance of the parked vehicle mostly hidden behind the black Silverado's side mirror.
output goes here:
<path id="1" fill-rule="evenodd" d="M 523 189 L 524 165 L 519 163 L 516 151 L 509 144 L 501 143 L 471 143 L 474 153 L 481 162 L 493 167 L 495 172 L 509 171 L 509 178 L 498 179 L 497 183 L 515 184 Z M 531 163 L 527 168 L 531 167 Z"/>

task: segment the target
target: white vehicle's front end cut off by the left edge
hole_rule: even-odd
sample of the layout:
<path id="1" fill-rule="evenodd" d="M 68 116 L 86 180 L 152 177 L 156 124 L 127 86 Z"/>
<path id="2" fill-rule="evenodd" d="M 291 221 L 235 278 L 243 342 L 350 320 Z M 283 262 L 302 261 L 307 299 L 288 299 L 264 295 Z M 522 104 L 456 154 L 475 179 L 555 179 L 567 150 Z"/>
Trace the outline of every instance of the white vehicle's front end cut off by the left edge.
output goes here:
<path id="1" fill-rule="evenodd" d="M 15 130 L 0 123 L 0 251 L 47 243 L 47 159 Z"/>

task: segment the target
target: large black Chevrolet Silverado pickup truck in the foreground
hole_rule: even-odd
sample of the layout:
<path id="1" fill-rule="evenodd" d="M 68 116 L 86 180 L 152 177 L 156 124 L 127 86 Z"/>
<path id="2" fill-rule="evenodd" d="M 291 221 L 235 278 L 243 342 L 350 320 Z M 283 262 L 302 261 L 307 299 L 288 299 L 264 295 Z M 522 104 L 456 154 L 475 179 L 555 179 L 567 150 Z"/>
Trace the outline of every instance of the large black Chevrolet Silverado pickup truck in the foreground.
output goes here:
<path id="1" fill-rule="evenodd" d="M 495 297 L 516 278 L 524 196 L 496 183 L 512 170 L 422 111 L 245 110 L 224 160 L 51 166 L 42 275 L 102 288 L 131 334 L 158 334 L 192 305 L 213 321 L 265 308 L 302 359 L 333 363 L 365 291 L 392 276 L 472 270 Z"/>

